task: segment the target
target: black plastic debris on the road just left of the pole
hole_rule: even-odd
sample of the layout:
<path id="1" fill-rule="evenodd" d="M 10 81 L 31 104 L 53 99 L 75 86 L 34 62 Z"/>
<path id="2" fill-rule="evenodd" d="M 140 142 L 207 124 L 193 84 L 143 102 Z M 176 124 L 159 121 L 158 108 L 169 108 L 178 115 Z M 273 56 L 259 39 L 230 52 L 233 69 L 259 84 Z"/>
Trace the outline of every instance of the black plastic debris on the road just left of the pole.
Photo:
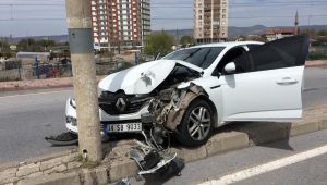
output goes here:
<path id="1" fill-rule="evenodd" d="M 45 139 L 53 146 L 69 146 L 78 143 L 78 136 L 70 132 L 62 133 L 58 136 L 45 137 Z"/>

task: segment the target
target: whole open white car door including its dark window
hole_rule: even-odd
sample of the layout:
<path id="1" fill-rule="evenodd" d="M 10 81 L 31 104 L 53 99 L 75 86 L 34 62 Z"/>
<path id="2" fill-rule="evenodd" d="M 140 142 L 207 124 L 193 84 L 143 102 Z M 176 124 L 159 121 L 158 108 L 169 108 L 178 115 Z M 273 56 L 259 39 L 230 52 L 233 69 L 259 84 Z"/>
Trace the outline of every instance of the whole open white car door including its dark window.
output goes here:
<path id="1" fill-rule="evenodd" d="M 275 40 L 234 61 L 222 75 L 225 121 L 298 121 L 302 118 L 302 81 L 308 37 Z"/>

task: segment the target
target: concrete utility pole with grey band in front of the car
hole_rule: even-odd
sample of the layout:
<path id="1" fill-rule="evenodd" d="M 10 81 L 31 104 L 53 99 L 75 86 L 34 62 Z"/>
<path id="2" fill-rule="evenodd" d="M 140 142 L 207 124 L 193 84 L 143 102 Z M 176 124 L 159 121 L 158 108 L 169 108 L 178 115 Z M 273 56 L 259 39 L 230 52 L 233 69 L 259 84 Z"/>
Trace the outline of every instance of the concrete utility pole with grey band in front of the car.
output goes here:
<path id="1" fill-rule="evenodd" d="M 89 0 L 66 0 L 66 22 L 73 64 L 80 152 L 89 161 L 102 159 L 96 69 Z"/>

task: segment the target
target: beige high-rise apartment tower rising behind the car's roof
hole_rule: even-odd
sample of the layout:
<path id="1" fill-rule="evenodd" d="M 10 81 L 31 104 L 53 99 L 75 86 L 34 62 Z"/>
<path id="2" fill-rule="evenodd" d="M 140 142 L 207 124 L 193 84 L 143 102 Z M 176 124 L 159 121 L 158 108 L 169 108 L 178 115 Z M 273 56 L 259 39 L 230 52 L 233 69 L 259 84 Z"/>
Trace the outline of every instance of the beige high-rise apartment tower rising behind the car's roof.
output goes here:
<path id="1" fill-rule="evenodd" d="M 194 0 L 194 38 L 198 44 L 228 37 L 228 0 Z"/>

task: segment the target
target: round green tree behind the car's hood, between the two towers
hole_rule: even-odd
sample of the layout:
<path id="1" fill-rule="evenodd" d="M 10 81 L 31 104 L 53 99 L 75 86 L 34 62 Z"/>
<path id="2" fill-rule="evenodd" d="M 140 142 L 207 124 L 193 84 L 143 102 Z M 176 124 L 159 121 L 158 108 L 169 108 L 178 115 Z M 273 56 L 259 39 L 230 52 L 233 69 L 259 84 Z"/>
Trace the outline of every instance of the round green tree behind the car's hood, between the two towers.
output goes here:
<path id="1" fill-rule="evenodd" d="M 158 53 L 167 54 L 172 51 L 174 38 L 171 35 L 162 32 L 153 34 L 145 38 L 145 53 L 156 57 Z"/>

